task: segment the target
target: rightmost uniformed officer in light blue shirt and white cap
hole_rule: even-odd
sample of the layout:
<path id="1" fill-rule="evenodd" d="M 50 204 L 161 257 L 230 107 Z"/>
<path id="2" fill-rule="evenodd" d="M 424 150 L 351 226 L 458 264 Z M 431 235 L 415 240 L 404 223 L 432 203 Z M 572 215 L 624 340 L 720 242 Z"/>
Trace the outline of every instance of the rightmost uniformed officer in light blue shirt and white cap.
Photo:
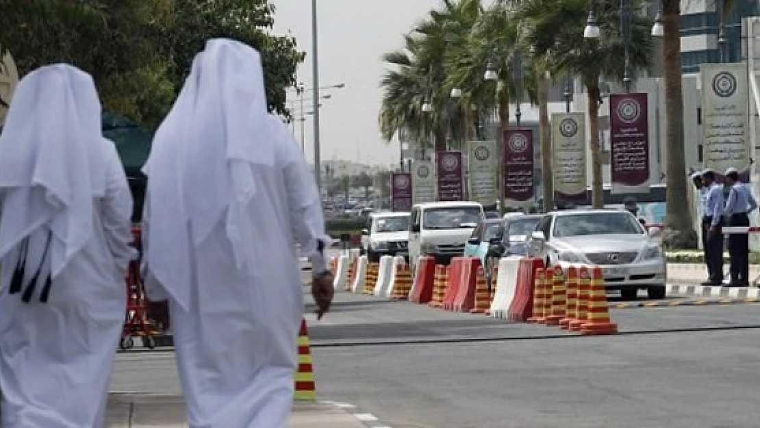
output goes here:
<path id="1" fill-rule="evenodd" d="M 726 201 L 726 218 L 729 226 L 749 226 L 749 212 L 758 208 L 749 187 L 739 182 L 736 168 L 726 170 L 726 182 L 731 186 Z M 749 286 L 749 235 L 731 233 L 728 236 L 728 254 L 731 258 L 731 282 L 733 287 Z"/>

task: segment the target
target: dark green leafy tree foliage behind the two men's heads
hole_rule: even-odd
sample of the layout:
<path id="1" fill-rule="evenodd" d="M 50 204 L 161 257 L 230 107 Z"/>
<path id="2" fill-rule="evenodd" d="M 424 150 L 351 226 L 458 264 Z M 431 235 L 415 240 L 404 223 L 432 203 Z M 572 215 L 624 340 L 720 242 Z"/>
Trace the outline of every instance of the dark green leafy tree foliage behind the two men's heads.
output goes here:
<path id="1" fill-rule="evenodd" d="M 105 109 L 148 126 L 168 111 L 195 54 L 211 37 L 259 49 L 271 111 L 287 115 L 285 90 L 304 55 L 274 36 L 268 0 L 0 0 L 0 49 L 23 75 L 68 62 L 95 78 Z"/>

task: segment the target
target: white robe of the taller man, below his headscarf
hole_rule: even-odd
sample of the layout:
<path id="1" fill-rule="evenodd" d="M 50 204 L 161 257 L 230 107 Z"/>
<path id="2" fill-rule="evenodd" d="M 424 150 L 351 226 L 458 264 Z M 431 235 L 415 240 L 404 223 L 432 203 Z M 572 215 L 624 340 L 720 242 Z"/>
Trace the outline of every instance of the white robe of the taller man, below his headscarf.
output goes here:
<path id="1" fill-rule="evenodd" d="M 274 167 L 251 166 L 257 190 L 248 206 L 255 243 L 248 260 L 255 275 L 249 277 L 245 269 L 236 268 L 223 219 L 201 245 L 190 249 L 189 310 L 154 281 L 150 260 L 144 259 L 149 299 L 169 297 L 179 377 L 192 428 L 287 425 L 303 312 L 296 243 L 310 249 L 307 255 L 324 265 L 314 249 L 317 239 L 326 236 L 311 170 L 287 127 L 280 122 L 274 128 Z M 144 237 L 149 236 L 149 204 L 143 227 Z M 146 249 L 150 246 L 148 240 L 143 244 Z"/>

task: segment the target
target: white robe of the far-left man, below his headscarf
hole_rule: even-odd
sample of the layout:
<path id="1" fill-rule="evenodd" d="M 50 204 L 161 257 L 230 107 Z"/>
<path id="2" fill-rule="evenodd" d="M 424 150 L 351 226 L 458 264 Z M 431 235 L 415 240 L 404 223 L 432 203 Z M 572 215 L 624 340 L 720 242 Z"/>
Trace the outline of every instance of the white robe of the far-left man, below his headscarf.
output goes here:
<path id="1" fill-rule="evenodd" d="M 132 198 L 110 141 L 103 141 L 106 195 L 94 201 L 93 235 L 30 303 L 0 290 L 0 389 L 4 428 L 100 428 L 125 319 Z M 5 198 L 3 198 L 5 199 Z M 46 233 L 38 230 L 36 233 Z M 38 254 L 33 254 L 34 252 Z M 30 258 L 42 249 L 30 246 Z M 16 251 L 2 260 L 8 284 Z M 33 272 L 28 272 L 31 277 Z"/>

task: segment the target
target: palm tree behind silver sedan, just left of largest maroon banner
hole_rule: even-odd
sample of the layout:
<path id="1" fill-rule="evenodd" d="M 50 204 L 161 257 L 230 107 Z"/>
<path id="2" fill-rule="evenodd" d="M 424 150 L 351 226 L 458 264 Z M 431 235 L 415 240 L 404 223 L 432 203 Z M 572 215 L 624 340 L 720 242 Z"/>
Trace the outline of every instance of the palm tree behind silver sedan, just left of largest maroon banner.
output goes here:
<path id="1" fill-rule="evenodd" d="M 632 2 L 635 10 L 637 2 Z M 584 40 L 587 17 L 586 0 L 543 0 L 524 5 L 521 16 L 528 24 L 526 39 L 536 49 L 537 58 L 546 63 L 553 76 L 578 76 L 586 87 L 591 148 L 592 205 L 603 208 L 602 159 L 599 145 L 600 78 L 621 81 L 625 47 L 620 36 L 619 10 L 610 2 L 597 3 L 600 40 Z M 651 21 L 634 14 L 629 55 L 632 68 L 647 68 L 651 59 Z"/>

